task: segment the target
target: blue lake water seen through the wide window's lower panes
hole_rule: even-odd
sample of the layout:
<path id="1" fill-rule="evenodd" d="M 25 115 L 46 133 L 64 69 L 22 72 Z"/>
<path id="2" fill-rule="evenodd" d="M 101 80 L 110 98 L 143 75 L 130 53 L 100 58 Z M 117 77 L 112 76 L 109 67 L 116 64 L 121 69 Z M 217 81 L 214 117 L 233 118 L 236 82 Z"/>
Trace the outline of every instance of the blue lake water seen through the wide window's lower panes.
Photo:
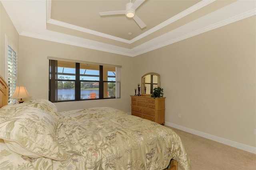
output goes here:
<path id="1" fill-rule="evenodd" d="M 90 93 L 96 93 L 96 98 L 99 98 L 99 90 L 81 89 L 81 99 L 90 99 Z M 114 96 L 113 90 L 108 90 L 108 97 Z M 58 100 L 74 100 L 75 89 L 58 89 Z"/>

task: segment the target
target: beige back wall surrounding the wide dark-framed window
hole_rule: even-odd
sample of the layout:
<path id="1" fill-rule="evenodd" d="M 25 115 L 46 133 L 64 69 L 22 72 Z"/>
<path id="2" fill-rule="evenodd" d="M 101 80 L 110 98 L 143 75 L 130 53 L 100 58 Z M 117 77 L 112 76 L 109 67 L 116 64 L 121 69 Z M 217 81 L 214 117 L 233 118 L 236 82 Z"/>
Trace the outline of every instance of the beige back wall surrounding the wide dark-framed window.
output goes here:
<path id="1" fill-rule="evenodd" d="M 87 48 L 20 36 L 19 85 L 26 86 L 33 99 L 48 99 L 49 60 L 47 56 L 121 65 L 121 98 L 56 103 L 59 111 L 110 106 L 130 112 L 132 58 Z M 24 99 L 26 100 L 26 99 Z M 28 99 L 27 99 L 28 100 Z"/>

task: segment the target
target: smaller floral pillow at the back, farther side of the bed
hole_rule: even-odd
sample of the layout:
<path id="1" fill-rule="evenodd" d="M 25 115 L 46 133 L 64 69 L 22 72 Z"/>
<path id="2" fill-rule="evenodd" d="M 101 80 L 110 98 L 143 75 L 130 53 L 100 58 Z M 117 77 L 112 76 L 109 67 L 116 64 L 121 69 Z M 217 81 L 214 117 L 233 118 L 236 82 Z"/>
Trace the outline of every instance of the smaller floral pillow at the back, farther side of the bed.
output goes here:
<path id="1" fill-rule="evenodd" d="M 28 106 L 34 107 L 34 108 L 40 108 L 48 113 L 50 113 L 53 116 L 58 116 L 58 109 L 49 100 L 46 99 L 35 99 L 30 100 L 30 104 Z"/>

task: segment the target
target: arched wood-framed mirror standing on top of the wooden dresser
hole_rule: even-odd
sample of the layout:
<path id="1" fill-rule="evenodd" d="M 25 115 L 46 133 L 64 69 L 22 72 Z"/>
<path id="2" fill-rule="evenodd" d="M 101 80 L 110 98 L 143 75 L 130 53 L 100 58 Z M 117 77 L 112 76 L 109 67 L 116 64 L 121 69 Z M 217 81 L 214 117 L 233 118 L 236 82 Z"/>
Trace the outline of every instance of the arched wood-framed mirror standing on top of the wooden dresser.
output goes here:
<path id="1" fill-rule="evenodd" d="M 154 72 L 144 74 L 141 77 L 142 95 L 150 95 L 155 87 L 160 87 L 160 75 Z M 146 92 L 145 92 L 146 87 Z"/>

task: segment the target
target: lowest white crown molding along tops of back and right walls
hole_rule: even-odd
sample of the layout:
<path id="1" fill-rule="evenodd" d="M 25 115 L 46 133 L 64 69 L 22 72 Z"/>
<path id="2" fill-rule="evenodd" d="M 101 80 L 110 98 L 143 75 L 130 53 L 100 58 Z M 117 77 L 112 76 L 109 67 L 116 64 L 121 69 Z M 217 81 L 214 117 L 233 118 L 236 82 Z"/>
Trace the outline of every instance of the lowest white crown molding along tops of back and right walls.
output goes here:
<path id="1" fill-rule="evenodd" d="M 32 33 L 29 33 L 29 32 L 22 32 L 22 33 L 20 33 L 20 35 L 28 36 L 28 37 L 32 37 L 32 38 L 38 38 L 38 39 L 42 39 L 42 40 L 53 41 L 53 42 L 59 42 L 59 43 L 62 43 L 62 44 L 79 46 L 79 47 L 83 47 L 83 48 L 90 48 L 90 49 L 93 49 L 93 50 L 110 52 L 110 53 L 114 53 L 114 54 L 120 54 L 120 55 L 124 55 L 124 56 L 135 57 L 135 56 L 138 56 L 140 54 L 144 54 L 146 52 L 156 50 L 158 48 L 173 44 L 175 42 L 179 42 L 181 40 L 184 40 L 186 38 L 190 38 L 192 36 L 196 36 L 198 34 L 202 34 L 204 32 L 208 32 L 210 30 L 214 30 L 214 29 L 219 28 L 221 26 L 225 26 L 227 24 L 231 24 L 232 22 L 236 22 L 238 20 L 242 20 L 242 19 L 248 18 L 250 16 L 254 16 L 254 15 L 256 15 L 256 10 L 255 9 L 249 10 L 247 12 L 244 12 L 244 13 L 236 15 L 236 16 L 232 16 L 231 18 L 228 18 L 226 20 L 222 20 L 220 22 L 217 22 L 215 24 L 206 26 L 204 28 L 194 30 L 194 31 L 189 32 L 187 34 L 180 35 L 176 38 L 171 38 L 170 40 L 162 42 L 160 44 L 156 43 L 156 42 L 160 42 L 163 37 L 166 38 L 166 37 L 169 37 L 170 35 L 177 34 L 176 31 L 178 31 L 178 29 L 181 29 L 181 28 L 177 28 L 177 29 L 172 30 L 172 31 L 170 31 L 170 32 L 168 32 L 168 33 L 166 33 L 162 36 L 159 36 L 158 38 L 154 38 L 154 39 L 152 39 L 148 42 L 145 42 L 144 44 L 142 44 L 138 47 L 132 48 L 132 49 L 113 46 L 113 45 L 110 45 L 110 44 L 105 44 L 105 43 L 96 42 L 96 41 L 93 41 L 93 40 L 87 40 L 87 39 L 83 39 L 83 38 L 80 38 L 81 39 L 80 41 L 77 41 L 77 38 L 74 38 L 74 41 L 71 41 L 70 37 L 73 37 L 73 36 L 68 36 L 66 38 L 66 40 L 64 40 L 63 38 L 54 38 L 53 36 L 43 36 L 43 35 L 39 35 L 39 34 L 32 34 Z M 196 22 L 196 21 L 194 21 L 194 22 Z M 200 22 L 200 21 L 198 21 L 198 22 Z M 183 27 L 184 27 L 184 29 L 186 29 L 185 27 L 190 27 L 192 24 L 193 24 L 193 22 L 190 22 L 190 23 L 184 25 Z M 62 36 L 66 36 L 66 35 L 62 35 Z M 93 44 L 93 45 L 88 45 L 88 44 Z M 157 44 L 157 45 L 154 45 L 154 44 Z M 136 49 L 136 48 L 139 48 L 139 49 Z M 138 52 L 135 52 L 135 50 L 137 50 Z"/>

